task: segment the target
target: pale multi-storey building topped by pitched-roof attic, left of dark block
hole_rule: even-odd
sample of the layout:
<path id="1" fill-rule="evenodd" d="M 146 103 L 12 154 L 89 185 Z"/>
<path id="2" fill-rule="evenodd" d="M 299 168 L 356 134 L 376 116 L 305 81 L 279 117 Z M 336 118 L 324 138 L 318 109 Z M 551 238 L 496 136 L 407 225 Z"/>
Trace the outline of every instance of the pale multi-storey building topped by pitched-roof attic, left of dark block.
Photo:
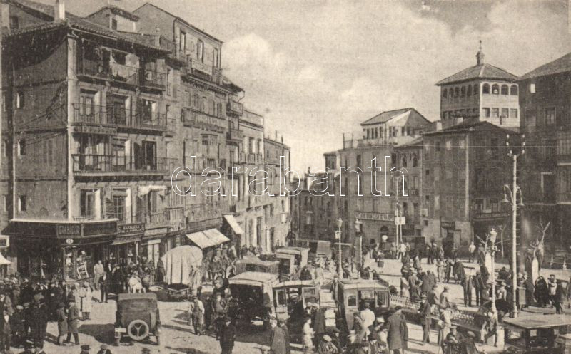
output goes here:
<path id="1" fill-rule="evenodd" d="M 402 174 L 398 172 L 403 169 L 391 170 L 393 167 L 408 168 L 402 166 L 402 159 L 397 159 L 395 147 L 414 143 L 413 140 L 420 137 L 422 132 L 432 129 L 433 124 L 414 108 L 403 108 L 375 115 L 361 123 L 361 127 L 363 139 L 345 141 L 343 150 L 339 151 L 342 194 L 338 196 L 338 205 L 344 221 L 343 241 L 355 243 L 354 223 L 355 219 L 359 219 L 362 222 L 363 246 L 366 246 L 380 242 L 383 235 L 388 236 L 390 241 L 395 239 L 397 205 L 401 208 L 407 207 L 407 212 L 413 212 L 415 202 L 409 201 L 409 197 L 403 195 L 402 190 L 398 192 L 400 196 L 397 202 L 397 186 L 400 184 L 399 189 L 402 189 L 404 176 L 404 180 L 408 181 L 405 184 L 408 183 L 410 188 L 410 175 L 405 171 Z M 412 154 L 402 155 L 406 156 L 404 163 L 407 166 L 409 160 L 410 165 L 415 165 Z M 417 158 L 417 165 L 418 161 Z M 377 170 L 380 167 L 376 175 L 372 173 L 373 164 Z M 400 182 L 397 184 L 399 178 Z M 420 181 L 417 180 L 416 183 Z M 418 208 L 420 210 L 420 205 Z M 405 225 L 403 235 L 414 236 L 419 232 L 416 229 L 407 228 Z"/>

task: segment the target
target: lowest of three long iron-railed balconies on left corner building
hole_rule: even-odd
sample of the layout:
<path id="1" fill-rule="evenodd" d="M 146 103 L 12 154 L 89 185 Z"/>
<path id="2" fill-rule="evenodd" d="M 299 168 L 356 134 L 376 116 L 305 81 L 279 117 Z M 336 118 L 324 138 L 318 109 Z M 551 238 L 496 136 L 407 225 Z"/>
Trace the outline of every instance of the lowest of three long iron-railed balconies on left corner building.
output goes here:
<path id="1" fill-rule="evenodd" d="M 89 175 L 170 175 L 177 159 L 158 157 L 132 161 L 117 155 L 73 154 L 74 174 Z M 133 157 L 133 160 L 135 158 Z"/>

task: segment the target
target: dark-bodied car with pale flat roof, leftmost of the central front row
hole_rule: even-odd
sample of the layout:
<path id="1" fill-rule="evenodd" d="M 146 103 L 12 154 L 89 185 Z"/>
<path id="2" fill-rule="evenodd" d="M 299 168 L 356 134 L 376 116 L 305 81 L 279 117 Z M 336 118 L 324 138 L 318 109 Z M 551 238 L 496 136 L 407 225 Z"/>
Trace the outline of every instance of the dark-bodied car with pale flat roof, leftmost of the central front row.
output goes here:
<path id="1" fill-rule="evenodd" d="M 236 319 L 242 323 L 262 324 L 269 328 L 273 313 L 273 287 L 279 283 L 278 274 L 245 271 L 228 279 L 230 293 L 236 299 Z"/>

